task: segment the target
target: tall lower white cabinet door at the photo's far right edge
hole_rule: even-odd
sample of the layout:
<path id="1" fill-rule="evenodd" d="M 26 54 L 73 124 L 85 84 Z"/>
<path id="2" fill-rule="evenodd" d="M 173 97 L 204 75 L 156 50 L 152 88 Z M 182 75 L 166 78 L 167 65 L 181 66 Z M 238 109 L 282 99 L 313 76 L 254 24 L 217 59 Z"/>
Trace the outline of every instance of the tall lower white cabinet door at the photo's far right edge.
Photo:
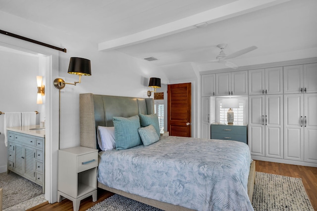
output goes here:
<path id="1" fill-rule="evenodd" d="M 317 94 L 304 94 L 304 161 L 317 163 Z"/>

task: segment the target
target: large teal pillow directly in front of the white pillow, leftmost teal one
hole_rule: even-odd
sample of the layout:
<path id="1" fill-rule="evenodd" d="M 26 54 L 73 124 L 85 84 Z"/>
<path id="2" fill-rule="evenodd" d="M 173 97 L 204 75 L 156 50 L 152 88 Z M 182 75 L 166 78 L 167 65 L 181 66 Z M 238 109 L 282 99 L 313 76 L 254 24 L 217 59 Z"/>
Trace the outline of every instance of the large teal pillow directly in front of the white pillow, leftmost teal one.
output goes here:
<path id="1" fill-rule="evenodd" d="M 138 128 L 140 127 L 139 116 L 129 118 L 113 117 L 115 147 L 116 150 L 129 149 L 142 144 Z"/>

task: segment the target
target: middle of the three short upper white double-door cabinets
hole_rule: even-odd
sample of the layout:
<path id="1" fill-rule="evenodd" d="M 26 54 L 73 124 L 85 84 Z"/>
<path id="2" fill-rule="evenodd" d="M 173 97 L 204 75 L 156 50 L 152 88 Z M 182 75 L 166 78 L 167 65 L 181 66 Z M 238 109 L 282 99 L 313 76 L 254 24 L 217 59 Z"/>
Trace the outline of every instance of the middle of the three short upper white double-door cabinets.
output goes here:
<path id="1" fill-rule="evenodd" d="M 249 95 L 283 94 L 283 67 L 249 70 Z"/>

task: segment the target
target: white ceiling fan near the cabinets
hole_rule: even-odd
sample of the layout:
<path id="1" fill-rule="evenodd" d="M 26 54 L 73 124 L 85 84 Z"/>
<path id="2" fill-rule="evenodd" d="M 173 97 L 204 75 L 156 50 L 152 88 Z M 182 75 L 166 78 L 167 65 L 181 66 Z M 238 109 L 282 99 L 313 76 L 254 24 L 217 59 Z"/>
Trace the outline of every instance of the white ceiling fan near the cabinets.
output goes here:
<path id="1" fill-rule="evenodd" d="M 238 68 L 238 66 L 230 61 L 227 61 L 229 59 L 233 59 L 235 57 L 241 56 L 242 54 L 248 53 L 252 50 L 257 49 L 257 46 L 251 46 L 251 47 L 247 47 L 244 48 L 242 50 L 236 51 L 230 55 L 225 54 L 225 52 L 223 51 L 223 49 L 227 46 L 226 43 L 222 43 L 222 44 L 218 44 L 217 47 L 220 48 L 220 52 L 219 54 L 216 56 L 216 59 L 214 60 L 210 60 L 210 61 L 200 61 L 200 62 L 217 62 L 217 63 L 223 63 L 224 65 L 226 65 L 227 67 L 236 69 Z"/>

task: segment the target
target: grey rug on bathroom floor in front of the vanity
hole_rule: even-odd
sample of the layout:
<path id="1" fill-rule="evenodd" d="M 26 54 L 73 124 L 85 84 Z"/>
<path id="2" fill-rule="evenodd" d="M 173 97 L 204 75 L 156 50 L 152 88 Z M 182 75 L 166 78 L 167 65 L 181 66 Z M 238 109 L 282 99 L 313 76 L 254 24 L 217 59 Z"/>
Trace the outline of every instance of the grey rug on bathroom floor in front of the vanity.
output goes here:
<path id="1" fill-rule="evenodd" d="M 3 188 L 3 209 L 43 194 L 40 185 L 14 172 L 0 173 L 0 187 Z"/>

